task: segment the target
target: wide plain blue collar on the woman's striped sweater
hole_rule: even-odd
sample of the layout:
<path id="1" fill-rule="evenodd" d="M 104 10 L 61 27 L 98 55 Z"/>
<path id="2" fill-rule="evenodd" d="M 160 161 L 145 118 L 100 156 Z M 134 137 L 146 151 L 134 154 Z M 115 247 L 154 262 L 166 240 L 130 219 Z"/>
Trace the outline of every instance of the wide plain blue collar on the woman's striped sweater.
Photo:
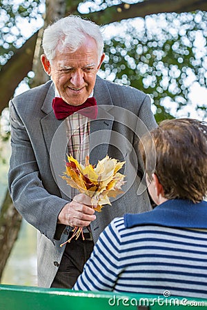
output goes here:
<path id="1" fill-rule="evenodd" d="M 126 228 L 139 225 L 207 229 L 207 202 L 190 200 L 167 200 L 152 211 L 143 214 L 125 214 Z"/>

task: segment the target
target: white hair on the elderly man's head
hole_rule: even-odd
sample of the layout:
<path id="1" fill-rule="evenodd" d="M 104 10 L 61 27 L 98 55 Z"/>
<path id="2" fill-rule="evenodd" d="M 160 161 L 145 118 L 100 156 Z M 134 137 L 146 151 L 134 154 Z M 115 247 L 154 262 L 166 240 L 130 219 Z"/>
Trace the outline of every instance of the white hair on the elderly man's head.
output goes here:
<path id="1" fill-rule="evenodd" d="M 75 52 L 88 36 L 95 39 L 97 43 L 97 54 L 100 61 L 103 54 L 103 37 L 99 26 L 76 15 L 63 17 L 52 23 L 52 25 L 48 25 L 43 32 L 42 46 L 44 54 L 46 54 L 49 61 L 52 61 L 57 50 L 67 47 L 72 52 Z"/>

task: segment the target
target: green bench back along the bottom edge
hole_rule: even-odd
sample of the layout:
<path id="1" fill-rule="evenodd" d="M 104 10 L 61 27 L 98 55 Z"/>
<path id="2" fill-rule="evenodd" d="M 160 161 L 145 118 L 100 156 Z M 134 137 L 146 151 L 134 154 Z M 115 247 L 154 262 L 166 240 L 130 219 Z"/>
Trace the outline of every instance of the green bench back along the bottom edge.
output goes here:
<path id="1" fill-rule="evenodd" d="M 0 310 L 207 309 L 207 299 L 0 285 Z"/>

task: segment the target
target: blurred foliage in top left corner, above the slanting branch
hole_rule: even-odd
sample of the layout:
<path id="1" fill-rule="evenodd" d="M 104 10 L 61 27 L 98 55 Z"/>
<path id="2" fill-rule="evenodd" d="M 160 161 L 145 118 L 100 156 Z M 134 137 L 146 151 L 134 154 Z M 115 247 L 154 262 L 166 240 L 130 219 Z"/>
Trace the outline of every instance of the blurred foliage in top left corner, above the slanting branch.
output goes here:
<path id="1" fill-rule="evenodd" d="M 40 27 L 41 21 L 43 24 L 44 2 L 0 0 L 0 68 L 30 37 L 32 31 Z"/>

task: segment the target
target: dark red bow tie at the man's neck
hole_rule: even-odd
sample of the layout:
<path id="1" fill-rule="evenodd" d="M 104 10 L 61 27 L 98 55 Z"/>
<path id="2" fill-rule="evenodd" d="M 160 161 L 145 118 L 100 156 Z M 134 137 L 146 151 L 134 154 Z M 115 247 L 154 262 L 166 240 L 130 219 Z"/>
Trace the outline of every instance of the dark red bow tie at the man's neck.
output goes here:
<path id="1" fill-rule="evenodd" d="M 84 109 L 88 107 L 88 109 Z M 80 113 L 86 117 L 97 118 L 97 101 L 94 97 L 88 98 L 82 105 L 69 105 L 60 97 L 52 100 L 52 109 L 57 119 L 63 119 L 80 110 Z M 83 110 L 83 111 L 82 111 Z"/>

